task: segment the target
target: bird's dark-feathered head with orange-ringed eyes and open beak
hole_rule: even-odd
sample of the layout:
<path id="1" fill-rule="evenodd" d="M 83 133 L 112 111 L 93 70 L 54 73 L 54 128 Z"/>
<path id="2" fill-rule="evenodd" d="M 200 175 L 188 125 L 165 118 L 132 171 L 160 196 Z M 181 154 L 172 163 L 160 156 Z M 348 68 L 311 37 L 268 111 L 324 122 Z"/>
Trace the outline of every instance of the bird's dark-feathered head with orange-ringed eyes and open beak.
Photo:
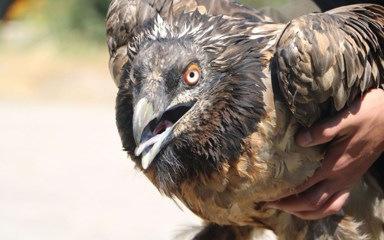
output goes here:
<path id="1" fill-rule="evenodd" d="M 196 11 L 136 28 L 116 120 L 124 150 L 161 192 L 209 178 L 257 131 L 265 114 L 263 46 L 232 33 L 240 27 Z"/>

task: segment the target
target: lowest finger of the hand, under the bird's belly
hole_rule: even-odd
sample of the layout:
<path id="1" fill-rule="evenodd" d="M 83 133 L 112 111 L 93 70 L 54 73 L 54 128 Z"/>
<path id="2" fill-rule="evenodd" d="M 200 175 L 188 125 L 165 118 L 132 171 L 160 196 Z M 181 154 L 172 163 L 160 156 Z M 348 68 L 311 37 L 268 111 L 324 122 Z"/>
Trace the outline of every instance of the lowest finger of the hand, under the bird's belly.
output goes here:
<path id="1" fill-rule="evenodd" d="M 332 214 L 337 214 L 347 201 L 352 188 L 343 189 L 334 194 L 316 211 L 289 212 L 304 220 L 317 220 Z"/>

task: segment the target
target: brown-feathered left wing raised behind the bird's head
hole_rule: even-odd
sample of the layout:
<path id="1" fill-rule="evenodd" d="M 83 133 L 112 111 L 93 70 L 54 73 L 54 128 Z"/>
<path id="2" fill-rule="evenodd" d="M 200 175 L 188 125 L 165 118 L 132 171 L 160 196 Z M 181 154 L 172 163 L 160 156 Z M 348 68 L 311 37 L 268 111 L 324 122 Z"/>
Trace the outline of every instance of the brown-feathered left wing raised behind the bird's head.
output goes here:
<path id="1" fill-rule="evenodd" d="M 127 62 L 127 45 L 137 25 L 157 13 L 168 16 L 172 0 L 113 0 L 106 19 L 109 71 L 116 85 L 120 83 L 122 67 Z M 257 10 L 232 0 L 174 0 L 173 13 L 192 12 L 199 9 L 209 15 L 226 15 L 253 21 L 271 21 Z"/>

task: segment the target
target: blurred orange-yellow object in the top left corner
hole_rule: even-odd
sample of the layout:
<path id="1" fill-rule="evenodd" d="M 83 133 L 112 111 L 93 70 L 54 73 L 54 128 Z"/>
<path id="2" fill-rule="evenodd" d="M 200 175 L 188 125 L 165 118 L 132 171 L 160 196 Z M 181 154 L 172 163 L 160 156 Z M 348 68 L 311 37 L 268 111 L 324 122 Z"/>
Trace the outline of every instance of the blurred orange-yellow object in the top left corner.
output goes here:
<path id="1" fill-rule="evenodd" d="M 12 20 L 20 17 L 28 11 L 41 7 L 45 2 L 45 0 L 15 0 L 5 13 L 4 19 Z"/>

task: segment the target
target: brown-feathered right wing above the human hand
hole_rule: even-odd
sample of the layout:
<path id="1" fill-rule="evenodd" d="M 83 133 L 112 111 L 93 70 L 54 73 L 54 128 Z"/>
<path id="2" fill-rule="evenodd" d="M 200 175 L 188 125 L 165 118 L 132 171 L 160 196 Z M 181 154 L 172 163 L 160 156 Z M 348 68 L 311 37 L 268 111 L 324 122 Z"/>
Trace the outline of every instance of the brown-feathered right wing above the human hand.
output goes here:
<path id="1" fill-rule="evenodd" d="M 384 78 L 384 8 L 361 4 L 288 23 L 276 40 L 281 91 L 305 126 L 350 104 Z"/>

